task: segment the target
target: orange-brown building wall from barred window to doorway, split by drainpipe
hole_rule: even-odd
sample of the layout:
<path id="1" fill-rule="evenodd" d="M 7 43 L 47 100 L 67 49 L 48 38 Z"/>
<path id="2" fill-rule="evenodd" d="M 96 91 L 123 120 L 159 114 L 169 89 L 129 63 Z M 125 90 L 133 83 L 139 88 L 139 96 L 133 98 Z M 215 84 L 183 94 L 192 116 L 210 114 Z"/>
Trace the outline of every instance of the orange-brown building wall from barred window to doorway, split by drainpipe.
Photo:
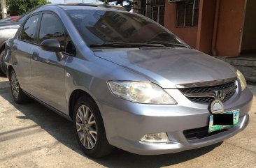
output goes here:
<path id="1" fill-rule="evenodd" d="M 216 50 L 220 56 L 239 56 L 246 0 L 220 0 Z M 201 0 L 199 26 L 176 28 L 176 3 L 165 3 L 164 26 L 188 45 L 211 54 L 216 0 Z"/>

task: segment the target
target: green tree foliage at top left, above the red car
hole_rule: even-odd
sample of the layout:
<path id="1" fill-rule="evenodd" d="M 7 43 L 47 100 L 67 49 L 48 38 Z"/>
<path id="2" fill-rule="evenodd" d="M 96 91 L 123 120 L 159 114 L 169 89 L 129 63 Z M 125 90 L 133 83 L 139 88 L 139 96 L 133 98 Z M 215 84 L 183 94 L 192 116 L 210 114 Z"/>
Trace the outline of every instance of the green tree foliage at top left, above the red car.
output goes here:
<path id="1" fill-rule="evenodd" d="M 47 0 L 6 0 L 8 14 L 22 15 L 36 6 L 42 6 L 50 3 Z"/>

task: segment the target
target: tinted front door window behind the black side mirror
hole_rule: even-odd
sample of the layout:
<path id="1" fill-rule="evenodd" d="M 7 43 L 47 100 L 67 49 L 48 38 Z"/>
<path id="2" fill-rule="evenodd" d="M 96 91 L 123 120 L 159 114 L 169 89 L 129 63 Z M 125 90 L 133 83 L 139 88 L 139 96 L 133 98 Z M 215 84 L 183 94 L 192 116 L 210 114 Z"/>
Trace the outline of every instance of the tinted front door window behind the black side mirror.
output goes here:
<path id="1" fill-rule="evenodd" d="M 39 43 L 46 39 L 57 39 L 64 51 L 65 28 L 55 15 L 44 13 L 39 31 Z"/>

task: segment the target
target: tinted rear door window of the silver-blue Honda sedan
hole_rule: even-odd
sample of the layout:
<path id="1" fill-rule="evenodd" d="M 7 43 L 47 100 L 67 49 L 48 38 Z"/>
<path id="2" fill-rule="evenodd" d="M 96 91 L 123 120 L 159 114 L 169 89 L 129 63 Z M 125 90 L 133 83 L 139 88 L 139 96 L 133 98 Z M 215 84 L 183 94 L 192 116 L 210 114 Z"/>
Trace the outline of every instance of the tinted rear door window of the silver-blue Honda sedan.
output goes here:
<path id="1" fill-rule="evenodd" d="M 38 24 L 39 15 L 34 15 L 29 17 L 26 24 L 24 24 L 22 33 L 21 33 L 21 40 L 25 40 L 28 42 L 34 42 L 35 34 L 36 34 L 36 26 Z"/>

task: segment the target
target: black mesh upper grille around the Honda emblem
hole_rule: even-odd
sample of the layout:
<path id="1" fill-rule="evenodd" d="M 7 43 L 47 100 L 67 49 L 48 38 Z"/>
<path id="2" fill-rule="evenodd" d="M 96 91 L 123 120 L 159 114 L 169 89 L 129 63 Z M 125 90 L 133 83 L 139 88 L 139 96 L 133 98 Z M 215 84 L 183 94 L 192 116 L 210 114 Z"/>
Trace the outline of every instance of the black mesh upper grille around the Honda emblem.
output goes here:
<path id="1" fill-rule="evenodd" d="M 192 94 L 192 93 L 212 93 L 213 91 L 216 90 L 225 90 L 225 89 L 230 89 L 236 85 L 236 82 L 229 82 L 226 84 L 220 84 L 220 85 L 215 85 L 215 86 L 201 86 L 201 87 L 194 87 L 194 88 L 183 88 L 179 89 L 184 95 L 186 94 Z M 226 93 L 224 100 L 222 102 L 225 102 L 231 98 L 236 90 L 234 89 L 233 91 Z M 193 102 L 201 102 L 201 103 L 210 103 L 214 100 L 212 97 L 188 97 L 187 98 Z"/>

